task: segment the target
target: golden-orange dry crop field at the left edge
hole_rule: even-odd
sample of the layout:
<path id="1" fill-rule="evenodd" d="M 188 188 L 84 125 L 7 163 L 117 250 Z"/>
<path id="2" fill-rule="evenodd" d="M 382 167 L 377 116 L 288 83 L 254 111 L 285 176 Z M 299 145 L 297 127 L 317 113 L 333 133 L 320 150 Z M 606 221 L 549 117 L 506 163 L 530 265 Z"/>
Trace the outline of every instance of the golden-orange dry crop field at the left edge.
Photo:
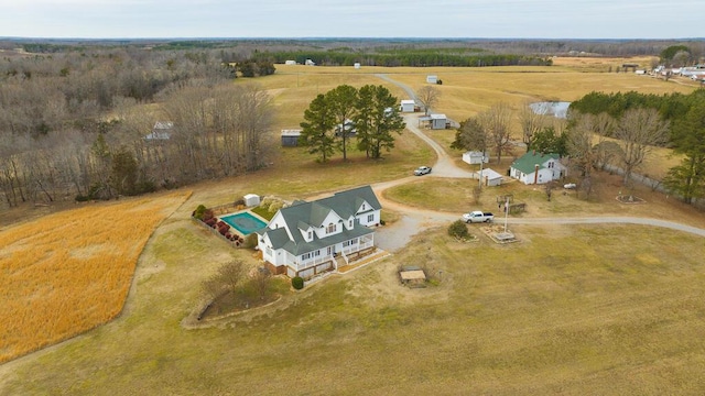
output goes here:
<path id="1" fill-rule="evenodd" d="M 0 232 L 0 362 L 120 314 L 154 229 L 188 194 L 87 206 Z"/>

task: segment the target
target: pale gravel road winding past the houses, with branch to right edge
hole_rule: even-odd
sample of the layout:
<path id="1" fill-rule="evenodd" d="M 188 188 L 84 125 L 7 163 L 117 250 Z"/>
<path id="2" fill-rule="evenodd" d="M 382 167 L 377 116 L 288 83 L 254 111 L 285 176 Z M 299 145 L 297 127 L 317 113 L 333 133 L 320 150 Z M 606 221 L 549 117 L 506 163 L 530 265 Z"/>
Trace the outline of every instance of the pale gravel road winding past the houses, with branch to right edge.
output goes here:
<path id="1" fill-rule="evenodd" d="M 394 81 L 387 75 L 377 75 L 379 78 L 395 84 L 406 94 L 410 98 L 414 98 L 414 92 L 408 86 Z M 411 131 L 426 144 L 429 144 L 437 155 L 437 161 L 432 165 L 433 170 L 430 175 L 420 177 L 448 177 L 448 178 L 470 178 L 470 172 L 458 168 L 448 154 L 431 138 L 426 136 L 419 129 L 417 116 L 404 114 L 404 122 L 406 123 L 406 130 Z M 427 165 L 427 164 L 419 164 Z M 399 249 L 406 245 L 411 238 L 432 227 L 447 226 L 451 222 L 460 218 L 460 212 L 449 213 L 427 209 L 419 209 L 410 206 L 405 206 L 395 201 L 391 201 L 384 198 L 383 191 L 388 188 L 395 187 L 405 183 L 411 183 L 416 179 L 417 176 L 409 176 L 397 180 L 383 182 L 372 185 L 372 190 L 377 195 L 382 207 L 391 209 L 401 215 L 401 218 L 393 224 L 389 224 L 380 228 L 377 231 L 376 243 L 379 248 L 388 251 L 395 252 Z M 468 180 L 468 183 L 471 183 Z M 505 219 L 497 219 L 496 222 L 502 222 Z M 672 221 L 651 219 L 651 218 L 634 218 L 634 217 L 566 217 L 566 218 L 531 218 L 519 219 L 508 218 L 509 224 L 639 224 L 639 226 L 652 226 L 666 228 L 671 230 L 692 233 L 695 235 L 705 238 L 705 229 L 685 226 Z"/>

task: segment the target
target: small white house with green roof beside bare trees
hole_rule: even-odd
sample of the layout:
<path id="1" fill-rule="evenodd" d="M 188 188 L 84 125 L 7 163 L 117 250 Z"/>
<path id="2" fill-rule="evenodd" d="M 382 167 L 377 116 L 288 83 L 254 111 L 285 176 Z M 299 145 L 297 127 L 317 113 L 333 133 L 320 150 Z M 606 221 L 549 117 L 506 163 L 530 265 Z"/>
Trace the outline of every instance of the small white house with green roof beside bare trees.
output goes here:
<path id="1" fill-rule="evenodd" d="M 558 154 L 531 151 L 511 164 L 509 176 L 525 185 L 558 180 L 567 174 L 567 168 L 560 160 Z"/>

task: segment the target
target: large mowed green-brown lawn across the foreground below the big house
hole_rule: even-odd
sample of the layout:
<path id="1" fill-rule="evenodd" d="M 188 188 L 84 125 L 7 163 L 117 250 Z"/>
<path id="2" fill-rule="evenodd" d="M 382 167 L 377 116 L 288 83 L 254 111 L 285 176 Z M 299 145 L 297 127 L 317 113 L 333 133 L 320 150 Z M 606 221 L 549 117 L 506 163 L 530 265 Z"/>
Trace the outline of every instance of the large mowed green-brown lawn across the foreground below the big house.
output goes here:
<path id="1" fill-rule="evenodd" d="M 517 227 L 523 241 L 499 246 L 473 232 L 479 242 L 466 244 L 427 232 L 261 315 L 186 330 L 180 321 L 214 268 L 204 256 L 224 251 L 212 235 L 175 228 L 148 248 L 124 318 L 0 369 L 2 393 L 705 389 L 702 239 L 642 227 Z M 399 286 L 400 264 L 426 266 L 438 286 Z"/>

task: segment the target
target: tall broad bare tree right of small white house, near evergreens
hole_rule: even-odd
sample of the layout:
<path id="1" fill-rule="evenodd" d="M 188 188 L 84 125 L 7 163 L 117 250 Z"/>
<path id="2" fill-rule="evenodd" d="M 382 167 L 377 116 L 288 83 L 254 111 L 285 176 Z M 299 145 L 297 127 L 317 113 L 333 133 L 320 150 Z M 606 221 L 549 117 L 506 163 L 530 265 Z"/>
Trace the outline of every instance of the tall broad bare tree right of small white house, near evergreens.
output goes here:
<path id="1" fill-rule="evenodd" d="M 665 142 L 669 122 L 661 120 L 654 109 L 627 110 L 617 125 L 615 138 L 621 146 L 621 163 L 627 185 L 632 172 L 639 167 L 653 146 Z"/>

